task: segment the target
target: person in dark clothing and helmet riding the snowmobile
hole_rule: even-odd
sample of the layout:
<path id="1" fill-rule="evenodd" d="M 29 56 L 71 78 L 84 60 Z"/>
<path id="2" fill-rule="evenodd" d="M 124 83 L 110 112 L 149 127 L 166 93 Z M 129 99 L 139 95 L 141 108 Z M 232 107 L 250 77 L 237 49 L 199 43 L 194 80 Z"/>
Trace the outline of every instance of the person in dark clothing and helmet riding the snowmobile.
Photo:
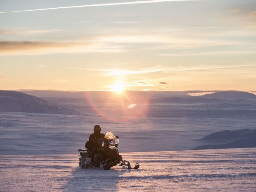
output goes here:
<path id="1" fill-rule="evenodd" d="M 105 135 L 103 133 L 101 133 L 101 127 L 99 125 L 95 125 L 93 128 L 93 131 L 94 131 L 93 134 L 91 134 L 89 137 L 89 141 L 92 145 L 92 147 L 91 147 L 91 156 L 92 156 L 91 161 L 92 162 L 94 161 L 94 155 L 98 153 L 97 148 L 101 147 L 99 145 L 99 143 L 97 142 L 97 139 L 105 137 Z"/>

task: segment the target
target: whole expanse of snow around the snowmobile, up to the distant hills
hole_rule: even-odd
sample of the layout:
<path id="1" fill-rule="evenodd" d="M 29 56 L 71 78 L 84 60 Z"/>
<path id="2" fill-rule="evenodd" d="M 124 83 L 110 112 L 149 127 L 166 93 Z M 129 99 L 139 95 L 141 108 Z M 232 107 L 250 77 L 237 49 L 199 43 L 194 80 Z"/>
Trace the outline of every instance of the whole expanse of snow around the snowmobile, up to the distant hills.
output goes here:
<path id="1" fill-rule="evenodd" d="M 127 121 L 112 100 L 51 101 L 83 115 L 0 112 L 0 191 L 255 191 L 256 148 L 189 150 L 214 132 L 254 130 L 255 103 L 124 103 L 128 116 L 144 109 Z M 141 167 L 78 168 L 77 149 L 95 124 L 119 136 L 120 154 Z"/>

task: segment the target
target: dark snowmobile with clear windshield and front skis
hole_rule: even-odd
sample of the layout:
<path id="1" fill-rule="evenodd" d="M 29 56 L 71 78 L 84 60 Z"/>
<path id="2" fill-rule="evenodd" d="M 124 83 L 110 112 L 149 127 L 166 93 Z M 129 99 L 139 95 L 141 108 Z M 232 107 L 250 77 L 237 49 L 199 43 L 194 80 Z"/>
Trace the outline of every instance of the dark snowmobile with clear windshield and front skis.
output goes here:
<path id="1" fill-rule="evenodd" d="M 86 149 L 78 149 L 79 151 L 79 167 L 89 168 L 89 167 L 100 167 L 104 170 L 109 170 L 111 167 L 119 165 L 119 166 L 127 166 L 128 169 L 131 169 L 130 162 L 124 160 L 121 155 L 119 155 L 119 151 L 117 149 L 119 143 L 119 137 L 115 136 L 112 132 L 107 132 L 104 138 L 97 139 L 97 143 L 99 144 L 98 148 L 92 148 L 90 142 L 86 142 Z M 92 162 L 92 150 L 96 150 L 96 154 L 94 155 L 94 161 Z M 138 169 L 139 164 L 136 163 L 133 169 Z"/>

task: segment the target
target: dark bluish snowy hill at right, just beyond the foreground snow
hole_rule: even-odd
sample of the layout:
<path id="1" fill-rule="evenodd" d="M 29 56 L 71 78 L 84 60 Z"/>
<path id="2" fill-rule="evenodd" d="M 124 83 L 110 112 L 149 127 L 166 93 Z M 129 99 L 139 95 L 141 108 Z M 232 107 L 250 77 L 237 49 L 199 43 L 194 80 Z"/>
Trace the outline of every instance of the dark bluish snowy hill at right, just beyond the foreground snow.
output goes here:
<path id="1" fill-rule="evenodd" d="M 245 148 L 256 147 L 256 129 L 242 129 L 242 130 L 225 130 L 215 132 L 205 137 L 198 139 L 205 143 L 194 149 L 226 149 L 226 148 Z"/>

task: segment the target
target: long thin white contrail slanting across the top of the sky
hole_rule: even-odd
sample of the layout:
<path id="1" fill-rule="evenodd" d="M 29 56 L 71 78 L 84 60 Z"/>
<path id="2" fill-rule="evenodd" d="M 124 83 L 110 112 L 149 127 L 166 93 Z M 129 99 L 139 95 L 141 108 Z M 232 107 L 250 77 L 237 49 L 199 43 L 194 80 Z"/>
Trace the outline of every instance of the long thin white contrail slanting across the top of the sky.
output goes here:
<path id="1" fill-rule="evenodd" d="M 92 5 L 79 5 L 79 6 L 68 6 L 68 7 L 53 7 L 45 9 L 29 9 L 22 11 L 2 11 L 0 13 L 18 13 L 18 12 L 28 12 L 28 11 L 43 11 L 52 9 L 68 9 L 68 8 L 79 8 L 79 7 L 100 7 L 100 6 L 112 6 L 112 5 L 132 5 L 132 4 L 143 4 L 143 3 L 161 3 L 170 1 L 200 1 L 200 0 L 149 0 L 149 1 L 131 1 L 131 2 L 121 2 L 121 3 L 101 3 Z"/>

